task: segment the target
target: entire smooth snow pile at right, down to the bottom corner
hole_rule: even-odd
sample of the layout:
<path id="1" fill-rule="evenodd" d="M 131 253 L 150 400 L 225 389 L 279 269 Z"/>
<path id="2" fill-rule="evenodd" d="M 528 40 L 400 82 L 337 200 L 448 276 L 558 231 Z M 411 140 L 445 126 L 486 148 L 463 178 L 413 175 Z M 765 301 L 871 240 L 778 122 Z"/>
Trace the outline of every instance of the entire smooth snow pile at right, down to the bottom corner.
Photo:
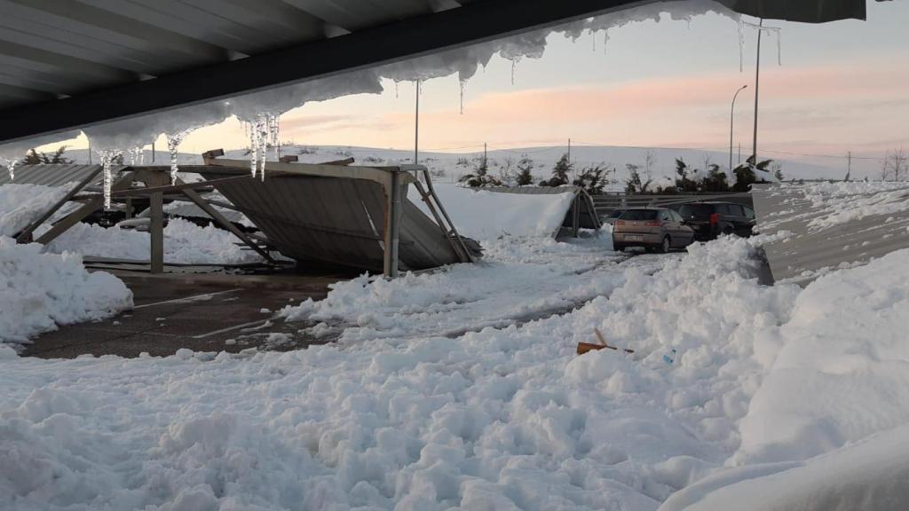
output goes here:
<path id="1" fill-rule="evenodd" d="M 741 446 L 727 461 L 736 467 L 662 509 L 720 510 L 729 502 L 748 510 L 903 509 L 907 289 L 909 250 L 807 286 L 779 335 L 754 346 L 767 373 L 740 423 Z"/>

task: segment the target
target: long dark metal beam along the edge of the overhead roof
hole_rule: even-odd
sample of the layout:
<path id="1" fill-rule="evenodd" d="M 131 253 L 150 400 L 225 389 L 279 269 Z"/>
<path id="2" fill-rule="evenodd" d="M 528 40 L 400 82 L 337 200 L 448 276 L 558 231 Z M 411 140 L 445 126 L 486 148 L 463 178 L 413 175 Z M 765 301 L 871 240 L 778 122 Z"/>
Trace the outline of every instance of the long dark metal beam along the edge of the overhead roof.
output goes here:
<path id="1" fill-rule="evenodd" d="M 646 3 L 649 0 L 474 2 L 261 55 L 0 110 L 0 143 L 340 75 Z"/>

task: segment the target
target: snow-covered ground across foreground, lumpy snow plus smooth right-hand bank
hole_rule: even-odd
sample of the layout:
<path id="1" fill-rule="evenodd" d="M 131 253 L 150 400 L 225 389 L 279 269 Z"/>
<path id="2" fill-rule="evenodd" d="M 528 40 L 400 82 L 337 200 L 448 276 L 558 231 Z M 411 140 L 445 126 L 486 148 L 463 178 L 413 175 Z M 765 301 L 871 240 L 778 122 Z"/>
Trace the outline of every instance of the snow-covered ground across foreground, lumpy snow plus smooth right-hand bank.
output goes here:
<path id="1" fill-rule="evenodd" d="M 907 253 L 801 291 L 758 285 L 740 239 L 607 248 L 504 238 L 336 285 L 283 312 L 341 331 L 304 351 L 0 351 L 0 506 L 653 510 L 909 422 Z M 634 354 L 576 356 L 594 328 Z"/>

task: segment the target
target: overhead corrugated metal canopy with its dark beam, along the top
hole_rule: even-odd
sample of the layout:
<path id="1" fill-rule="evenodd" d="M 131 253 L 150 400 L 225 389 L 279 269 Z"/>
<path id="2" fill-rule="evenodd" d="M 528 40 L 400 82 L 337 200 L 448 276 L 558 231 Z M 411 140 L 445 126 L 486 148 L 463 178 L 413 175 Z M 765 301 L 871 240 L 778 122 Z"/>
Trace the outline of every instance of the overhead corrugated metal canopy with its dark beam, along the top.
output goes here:
<path id="1" fill-rule="evenodd" d="M 648 3 L 0 0 L 0 144 Z M 746 15 L 814 23 L 865 15 L 864 0 L 719 3 Z"/>

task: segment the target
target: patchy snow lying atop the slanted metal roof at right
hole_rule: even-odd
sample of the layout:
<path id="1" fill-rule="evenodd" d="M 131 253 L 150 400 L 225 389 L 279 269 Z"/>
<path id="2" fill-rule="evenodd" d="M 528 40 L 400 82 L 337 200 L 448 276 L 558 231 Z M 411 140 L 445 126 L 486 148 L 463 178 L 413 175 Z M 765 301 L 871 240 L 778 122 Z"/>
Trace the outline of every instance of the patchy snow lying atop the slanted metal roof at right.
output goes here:
<path id="1" fill-rule="evenodd" d="M 770 195 L 788 195 L 792 205 L 779 219 L 762 221 L 763 232 L 772 232 L 780 222 L 808 220 L 808 228 L 820 231 L 874 215 L 909 211 L 909 186 L 900 182 L 836 182 L 774 185 Z"/>

